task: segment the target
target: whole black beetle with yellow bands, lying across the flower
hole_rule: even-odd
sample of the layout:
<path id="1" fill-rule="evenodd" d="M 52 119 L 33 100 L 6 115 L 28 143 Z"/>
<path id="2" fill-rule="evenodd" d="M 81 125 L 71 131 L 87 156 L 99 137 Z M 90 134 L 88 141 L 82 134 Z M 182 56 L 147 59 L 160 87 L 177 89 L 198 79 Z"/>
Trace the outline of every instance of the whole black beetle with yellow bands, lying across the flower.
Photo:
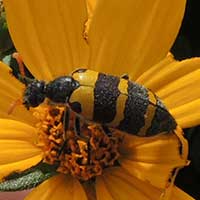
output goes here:
<path id="1" fill-rule="evenodd" d="M 78 69 L 49 83 L 33 80 L 27 84 L 23 99 L 27 109 L 45 98 L 69 105 L 88 121 L 138 136 L 170 132 L 177 126 L 159 98 L 127 76 Z"/>

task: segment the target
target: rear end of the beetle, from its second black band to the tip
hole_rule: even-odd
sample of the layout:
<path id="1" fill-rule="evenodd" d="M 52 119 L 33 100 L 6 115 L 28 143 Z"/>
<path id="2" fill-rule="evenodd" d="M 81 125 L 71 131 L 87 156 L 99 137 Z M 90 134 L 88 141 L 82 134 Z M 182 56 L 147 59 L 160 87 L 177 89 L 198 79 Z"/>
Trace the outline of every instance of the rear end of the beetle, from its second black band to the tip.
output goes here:
<path id="1" fill-rule="evenodd" d="M 124 119 L 117 128 L 140 136 L 152 136 L 174 130 L 176 122 L 155 94 L 128 81 Z"/>

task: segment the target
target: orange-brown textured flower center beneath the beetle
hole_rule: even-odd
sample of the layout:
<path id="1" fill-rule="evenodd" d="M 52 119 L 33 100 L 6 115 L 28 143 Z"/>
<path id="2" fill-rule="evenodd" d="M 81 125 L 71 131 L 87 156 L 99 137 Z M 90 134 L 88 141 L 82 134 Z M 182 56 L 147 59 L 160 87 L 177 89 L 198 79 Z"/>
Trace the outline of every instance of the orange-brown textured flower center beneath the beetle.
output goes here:
<path id="1" fill-rule="evenodd" d="M 41 110 L 41 109 L 40 109 Z M 38 111 L 38 145 L 44 151 L 45 163 L 55 165 L 57 171 L 71 174 L 79 180 L 101 175 L 104 168 L 115 166 L 123 135 L 113 132 L 108 136 L 100 125 L 80 124 L 80 135 L 75 131 L 75 114 L 70 114 L 69 127 L 64 131 L 65 109 L 47 106 Z"/>

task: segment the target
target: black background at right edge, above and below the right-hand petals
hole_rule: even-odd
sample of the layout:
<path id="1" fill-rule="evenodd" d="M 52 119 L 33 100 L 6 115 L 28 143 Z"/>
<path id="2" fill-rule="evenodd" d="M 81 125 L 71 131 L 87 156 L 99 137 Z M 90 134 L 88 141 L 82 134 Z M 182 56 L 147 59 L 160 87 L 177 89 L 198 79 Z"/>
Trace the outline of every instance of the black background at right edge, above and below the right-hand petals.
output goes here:
<path id="1" fill-rule="evenodd" d="M 200 56 L 200 0 L 188 0 L 182 27 L 172 47 L 172 53 L 179 60 Z M 179 172 L 176 185 L 200 200 L 200 126 L 184 132 L 190 145 L 191 164 Z"/>

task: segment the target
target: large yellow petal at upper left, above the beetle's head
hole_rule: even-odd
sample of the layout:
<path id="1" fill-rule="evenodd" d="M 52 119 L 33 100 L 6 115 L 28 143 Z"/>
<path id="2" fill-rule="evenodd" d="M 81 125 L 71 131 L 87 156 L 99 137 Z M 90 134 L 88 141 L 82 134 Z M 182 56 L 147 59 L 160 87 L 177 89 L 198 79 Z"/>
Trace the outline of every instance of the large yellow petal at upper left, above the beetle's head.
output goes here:
<path id="1" fill-rule="evenodd" d="M 15 46 L 36 78 L 51 80 L 86 66 L 85 1 L 5 0 L 4 5 Z"/>

